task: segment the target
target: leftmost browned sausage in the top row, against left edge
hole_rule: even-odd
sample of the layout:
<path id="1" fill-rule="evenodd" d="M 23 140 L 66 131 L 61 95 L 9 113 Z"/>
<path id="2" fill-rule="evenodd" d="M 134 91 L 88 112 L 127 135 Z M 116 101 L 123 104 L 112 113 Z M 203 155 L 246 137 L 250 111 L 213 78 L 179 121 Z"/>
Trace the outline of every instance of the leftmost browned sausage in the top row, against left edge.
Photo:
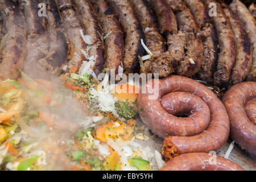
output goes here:
<path id="1" fill-rule="evenodd" d="M 7 12 L 6 30 L 9 34 L 6 46 L 2 51 L 0 80 L 16 79 L 20 76 L 27 55 L 27 26 L 19 6 L 11 0 L 5 0 Z M 6 9 L 6 10 L 7 10 Z"/>

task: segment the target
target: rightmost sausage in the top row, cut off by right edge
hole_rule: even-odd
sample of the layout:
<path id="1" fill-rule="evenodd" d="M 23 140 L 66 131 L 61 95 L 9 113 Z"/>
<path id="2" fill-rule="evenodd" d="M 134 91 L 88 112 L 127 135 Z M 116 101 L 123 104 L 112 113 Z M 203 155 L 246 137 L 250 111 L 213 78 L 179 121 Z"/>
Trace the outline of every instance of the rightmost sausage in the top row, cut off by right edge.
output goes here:
<path id="1" fill-rule="evenodd" d="M 253 63 L 246 80 L 256 81 L 256 20 L 250 14 L 250 11 L 240 1 L 234 0 L 230 5 L 230 9 L 237 14 L 242 22 L 253 47 Z"/>

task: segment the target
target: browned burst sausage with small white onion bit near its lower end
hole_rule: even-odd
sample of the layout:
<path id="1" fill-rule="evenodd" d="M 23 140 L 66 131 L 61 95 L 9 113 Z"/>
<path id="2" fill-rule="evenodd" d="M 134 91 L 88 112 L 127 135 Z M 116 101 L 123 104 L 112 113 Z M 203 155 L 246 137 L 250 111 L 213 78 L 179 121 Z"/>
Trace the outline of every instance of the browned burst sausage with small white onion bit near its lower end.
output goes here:
<path id="1" fill-rule="evenodd" d="M 167 0 L 167 3 L 172 7 L 176 15 L 177 26 L 179 27 L 177 36 L 180 36 L 180 38 L 181 36 L 184 36 L 184 41 L 182 43 L 179 42 L 179 39 L 170 36 L 167 43 L 169 47 L 168 49 L 171 56 L 175 56 L 177 50 L 173 45 L 170 45 L 170 42 L 183 46 L 183 49 L 180 50 L 182 55 L 179 56 L 179 59 L 176 59 L 179 63 L 176 73 L 178 75 L 190 77 L 199 71 L 203 58 L 203 44 L 200 36 L 197 36 L 200 32 L 200 28 L 191 14 L 191 11 L 183 1 Z M 177 41 L 174 42 L 174 40 Z"/>

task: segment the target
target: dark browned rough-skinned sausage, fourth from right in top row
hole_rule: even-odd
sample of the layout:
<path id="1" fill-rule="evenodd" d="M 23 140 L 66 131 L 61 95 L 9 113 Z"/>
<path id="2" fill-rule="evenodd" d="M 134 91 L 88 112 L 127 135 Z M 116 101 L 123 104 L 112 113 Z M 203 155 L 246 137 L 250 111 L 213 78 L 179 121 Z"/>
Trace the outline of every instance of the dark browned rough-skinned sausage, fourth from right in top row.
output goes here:
<path id="1" fill-rule="evenodd" d="M 214 69 L 217 60 L 217 35 L 212 22 L 208 16 L 208 11 L 200 0 L 184 0 L 195 17 L 201 32 L 201 39 L 203 43 L 203 59 L 201 68 L 197 72 L 201 80 L 212 81 Z"/>

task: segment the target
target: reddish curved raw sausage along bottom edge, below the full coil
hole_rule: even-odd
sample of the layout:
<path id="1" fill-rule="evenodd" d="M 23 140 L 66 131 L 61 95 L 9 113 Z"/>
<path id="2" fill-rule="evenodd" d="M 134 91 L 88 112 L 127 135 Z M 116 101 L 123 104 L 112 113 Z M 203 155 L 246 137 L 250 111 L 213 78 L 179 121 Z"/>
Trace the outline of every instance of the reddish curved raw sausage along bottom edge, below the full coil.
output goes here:
<path id="1" fill-rule="evenodd" d="M 231 160 L 216 156 L 216 161 L 212 156 L 204 153 L 181 154 L 169 160 L 162 171 L 245 171 L 241 166 Z M 216 163 L 214 163 L 216 162 Z"/>

